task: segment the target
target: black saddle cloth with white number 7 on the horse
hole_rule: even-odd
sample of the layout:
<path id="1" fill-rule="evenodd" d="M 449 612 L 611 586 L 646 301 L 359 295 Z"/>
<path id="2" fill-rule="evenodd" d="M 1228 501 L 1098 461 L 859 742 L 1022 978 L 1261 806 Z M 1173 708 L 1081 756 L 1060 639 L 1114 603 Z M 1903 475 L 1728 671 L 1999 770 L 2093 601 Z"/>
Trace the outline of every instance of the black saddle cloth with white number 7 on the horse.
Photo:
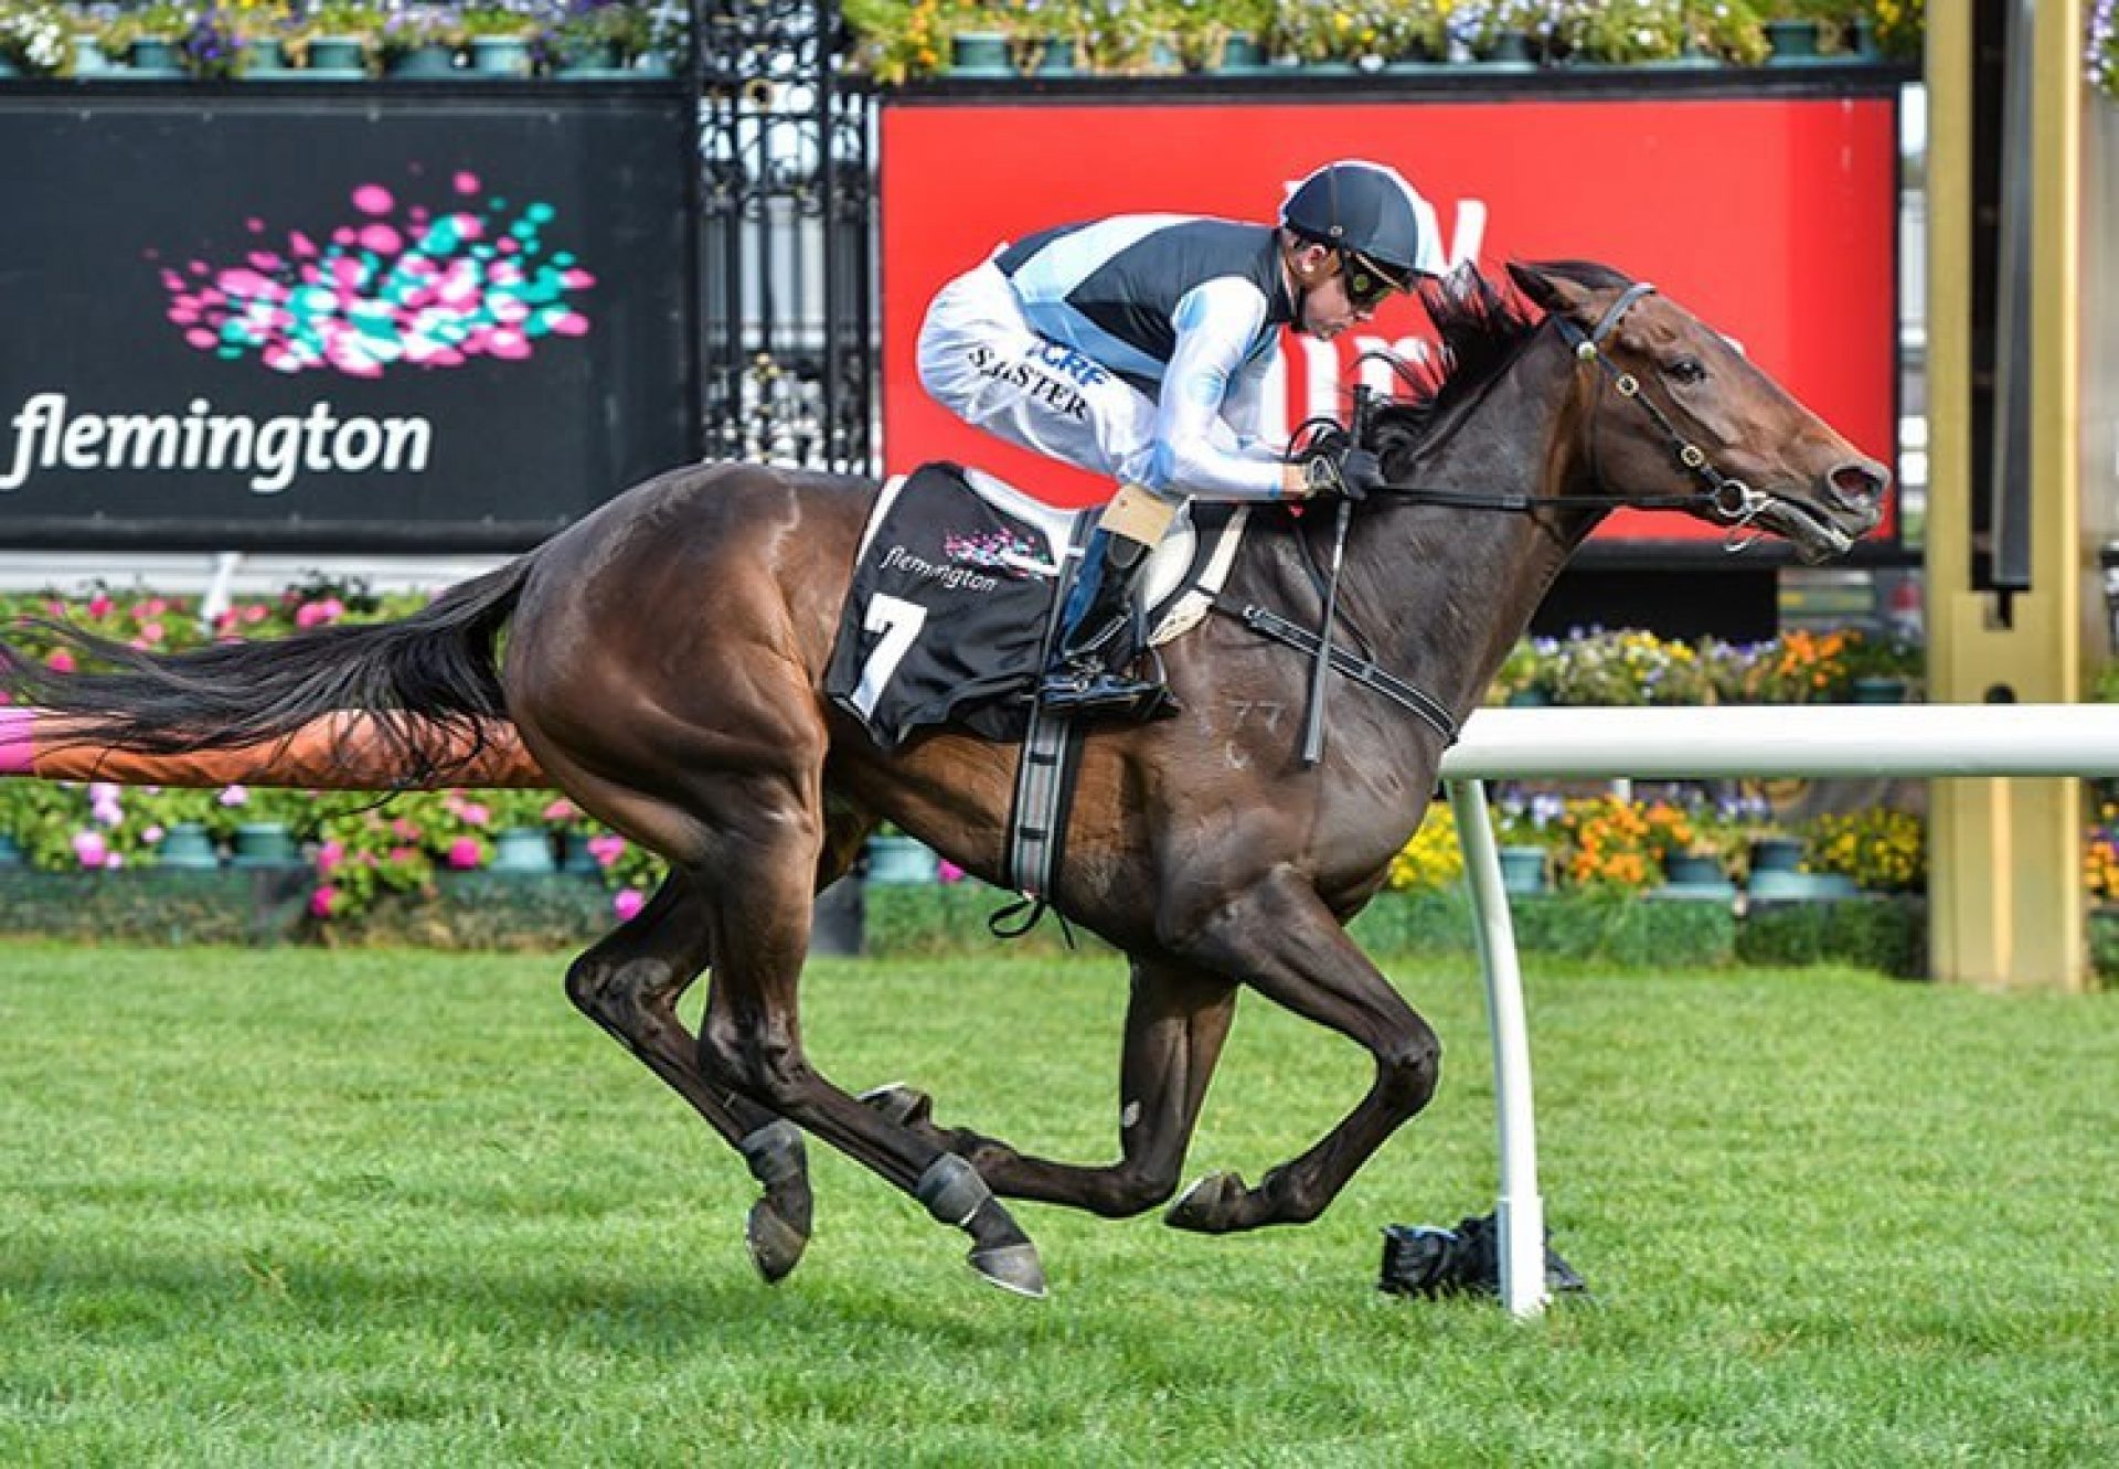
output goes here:
<path id="1" fill-rule="evenodd" d="M 886 750 L 934 725 L 1019 742 L 1096 515 L 958 464 L 890 479 L 854 557 L 824 693 Z M 1225 505 L 1172 521 L 1140 577 L 1151 644 L 1206 617 L 1244 521 Z"/>

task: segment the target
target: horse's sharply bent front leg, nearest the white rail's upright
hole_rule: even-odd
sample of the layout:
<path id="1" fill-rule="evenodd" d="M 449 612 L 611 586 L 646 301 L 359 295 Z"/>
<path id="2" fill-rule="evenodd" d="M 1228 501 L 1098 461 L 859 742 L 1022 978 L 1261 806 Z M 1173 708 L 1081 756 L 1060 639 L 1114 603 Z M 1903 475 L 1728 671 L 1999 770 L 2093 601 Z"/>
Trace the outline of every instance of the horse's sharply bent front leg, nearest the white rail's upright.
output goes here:
<path id="1" fill-rule="evenodd" d="M 1259 1187 L 1233 1172 L 1206 1176 L 1170 1208 L 1168 1223 L 1206 1234 L 1310 1223 L 1435 1096 L 1441 1043 L 1318 895 L 1284 869 L 1197 924 L 1187 956 L 1242 975 L 1259 994 L 1360 1043 L 1375 1058 L 1375 1081 L 1337 1128 Z"/>

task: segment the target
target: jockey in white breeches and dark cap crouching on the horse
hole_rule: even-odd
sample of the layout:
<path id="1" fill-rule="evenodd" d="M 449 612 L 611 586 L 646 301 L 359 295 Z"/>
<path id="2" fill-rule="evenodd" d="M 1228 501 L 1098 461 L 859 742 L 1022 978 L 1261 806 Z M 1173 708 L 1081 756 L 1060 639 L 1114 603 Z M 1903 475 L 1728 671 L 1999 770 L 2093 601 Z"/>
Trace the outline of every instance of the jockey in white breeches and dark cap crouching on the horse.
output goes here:
<path id="1" fill-rule="evenodd" d="M 1326 163 L 1271 225 L 1121 214 L 1004 244 L 958 276 L 920 326 L 920 382 L 966 424 L 1110 475 L 1038 689 L 1055 712 L 1176 712 L 1112 668 L 1148 551 L 1193 496 L 1360 496 L 1375 456 L 1286 462 L 1263 443 L 1280 329 L 1333 339 L 1394 290 L 1443 271 L 1435 208 L 1382 163 Z"/>

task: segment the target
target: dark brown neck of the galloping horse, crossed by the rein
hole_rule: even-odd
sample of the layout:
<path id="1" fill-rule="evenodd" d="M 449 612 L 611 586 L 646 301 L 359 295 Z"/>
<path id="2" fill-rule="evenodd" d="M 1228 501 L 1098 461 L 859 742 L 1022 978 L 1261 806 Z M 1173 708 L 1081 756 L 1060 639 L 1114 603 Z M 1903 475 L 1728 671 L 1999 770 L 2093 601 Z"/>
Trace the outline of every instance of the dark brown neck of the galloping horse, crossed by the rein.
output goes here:
<path id="1" fill-rule="evenodd" d="M 1564 350 L 1532 343 L 1392 477 L 1466 494 L 1583 492 L 1572 386 Z M 1468 708 L 1596 519 L 1468 509 L 1365 515 L 1341 591 L 1348 619 L 1415 683 Z"/>

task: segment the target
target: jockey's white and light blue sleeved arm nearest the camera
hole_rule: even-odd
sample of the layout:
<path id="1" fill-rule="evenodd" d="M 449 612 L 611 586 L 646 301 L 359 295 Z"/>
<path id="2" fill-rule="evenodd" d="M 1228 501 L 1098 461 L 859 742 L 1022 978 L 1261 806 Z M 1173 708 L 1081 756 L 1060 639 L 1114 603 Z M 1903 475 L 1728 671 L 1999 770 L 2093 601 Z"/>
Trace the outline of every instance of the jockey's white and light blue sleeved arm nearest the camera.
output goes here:
<path id="1" fill-rule="evenodd" d="M 1265 329 L 1265 297 L 1225 276 L 1195 286 L 1172 318 L 1176 346 L 1163 371 L 1155 443 L 1140 483 L 1157 494 L 1206 500 L 1282 500 L 1303 494 L 1301 471 L 1244 437 L 1259 422 L 1263 369 L 1250 346 Z M 1233 403 L 1231 403 L 1233 396 Z"/>

